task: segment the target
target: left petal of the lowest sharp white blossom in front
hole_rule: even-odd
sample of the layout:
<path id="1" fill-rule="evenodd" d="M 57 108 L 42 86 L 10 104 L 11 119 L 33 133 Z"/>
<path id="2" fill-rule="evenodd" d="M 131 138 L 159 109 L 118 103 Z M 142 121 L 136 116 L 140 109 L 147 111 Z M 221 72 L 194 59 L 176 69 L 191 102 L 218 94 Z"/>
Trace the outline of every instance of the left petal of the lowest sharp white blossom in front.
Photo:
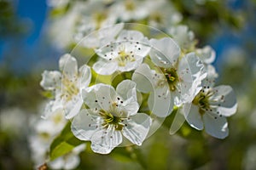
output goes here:
<path id="1" fill-rule="evenodd" d="M 96 126 L 99 126 L 94 115 L 90 110 L 82 110 L 77 116 L 73 117 L 71 131 L 75 137 L 80 140 L 90 140 L 92 135 L 98 130 Z"/>

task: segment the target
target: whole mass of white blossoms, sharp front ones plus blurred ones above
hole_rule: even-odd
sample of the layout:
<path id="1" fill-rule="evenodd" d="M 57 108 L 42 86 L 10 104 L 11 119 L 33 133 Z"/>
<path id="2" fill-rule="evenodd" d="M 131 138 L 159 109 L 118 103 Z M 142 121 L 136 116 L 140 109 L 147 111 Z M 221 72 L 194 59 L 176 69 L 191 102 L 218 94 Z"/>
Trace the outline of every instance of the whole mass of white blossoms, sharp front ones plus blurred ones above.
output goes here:
<path id="1" fill-rule="evenodd" d="M 178 25 L 182 16 L 170 1 L 53 2 L 58 12 L 69 8 L 52 20 L 55 44 L 76 44 L 86 62 L 74 48 L 61 56 L 60 71 L 43 72 L 40 85 L 52 97 L 45 119 L 61 113 L 71 121 L 73 135 L 90 141 L 91 150 L 100 154 L 142 145 L 159 127 L 159 118 L 171 114 L 213 137 L 227 137 L 226 117 L 236 113 L 236 95 L 230 86 L 215 86 L 214 50 L 196 47 L 195 34 Z M 117 24 L 138 20 L 166 33 Z M 90 50 L 93 55 L 87 57 Z"/>

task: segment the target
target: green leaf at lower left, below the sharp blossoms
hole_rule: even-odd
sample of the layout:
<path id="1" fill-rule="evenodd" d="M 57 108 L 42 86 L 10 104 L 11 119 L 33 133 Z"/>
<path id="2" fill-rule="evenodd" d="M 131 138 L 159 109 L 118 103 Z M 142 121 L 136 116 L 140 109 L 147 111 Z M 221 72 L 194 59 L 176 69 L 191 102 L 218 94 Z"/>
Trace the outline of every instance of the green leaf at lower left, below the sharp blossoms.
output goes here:
<path id="1" fill-rule="evenodd" d="M 84 142 L 77 139 L 71 132 L 71 122 L 67 122 L 66 127 L 62 130 L 61 134 L 57 136 L 49 147 L 49 158 L 51 161 L 63 156 L 73 150 L 79 144 Z"/>

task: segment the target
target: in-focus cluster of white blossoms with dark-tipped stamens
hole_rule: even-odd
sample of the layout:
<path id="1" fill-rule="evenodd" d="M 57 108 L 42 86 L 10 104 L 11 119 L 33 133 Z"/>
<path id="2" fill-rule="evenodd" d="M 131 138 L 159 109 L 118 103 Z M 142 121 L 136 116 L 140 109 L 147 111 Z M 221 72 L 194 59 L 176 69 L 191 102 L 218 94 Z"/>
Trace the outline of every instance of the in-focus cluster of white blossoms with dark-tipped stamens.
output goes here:
<path id="1" fill-rule="evenodd" d="M 111 34 L 117 27 L 119 31 Z M 175 38 L 148 38 L 123 25 L 103 32 L 108 37 L 98 39 L 93 62 L 78 70 L 77 60 L 65 54 L 60 59 L 61 71 L 44 71 L 40 84 L 54 95 L 44 117 L 63 111 L 72 122 L 73 135 L 90 141 L 91 149 L 101 154 L 124 142 L 143 144 L 155 117 L 169 116 L 174 108 L 179 108 L 177 114 L 191 127 L 205 127 L 219 139 L 228 135 L 225 117 L 236 112 L 236 96 L 229 86 L 214 87 L 218 74 L 211 65 L 215 58 L 212 48 L 195 48 L 193 38 L 189 42 L 179 33 Z M 124 73 L 130 77 L 122 77 L 116 84 L 99 78 L 113 80 Z M 143 111 L 142 105 L 148 110 Z"/>

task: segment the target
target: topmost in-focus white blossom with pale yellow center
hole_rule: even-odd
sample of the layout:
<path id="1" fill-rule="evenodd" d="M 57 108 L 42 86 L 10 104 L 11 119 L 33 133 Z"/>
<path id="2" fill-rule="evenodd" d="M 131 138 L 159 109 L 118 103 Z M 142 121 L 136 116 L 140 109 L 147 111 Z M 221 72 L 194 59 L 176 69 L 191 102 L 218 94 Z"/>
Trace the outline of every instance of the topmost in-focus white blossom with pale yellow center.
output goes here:
<path id="1" fill-rule="evenodd" d="M 101 59 L 93 65 L 93 69 L 102 75 L 135 70 L 143 63 L 149 50 L 148 38 L 143 33 L 123 30 L 115 42 L 96 50 Z"/>

